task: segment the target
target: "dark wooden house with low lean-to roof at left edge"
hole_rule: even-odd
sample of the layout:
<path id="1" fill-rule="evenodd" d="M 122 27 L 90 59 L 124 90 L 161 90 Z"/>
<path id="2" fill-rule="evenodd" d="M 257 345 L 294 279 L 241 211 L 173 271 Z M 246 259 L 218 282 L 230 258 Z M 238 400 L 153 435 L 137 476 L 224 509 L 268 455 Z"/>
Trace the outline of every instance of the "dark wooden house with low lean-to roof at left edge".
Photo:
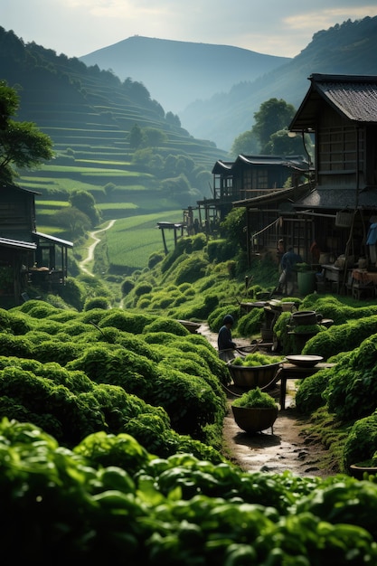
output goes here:
<path id="1" fill-rule="evenodd" d="M 71 241 L 36 230 L 35 193 L 0 184 L 0 306 L 20 304 L 31 285 L 54 291 L 67 277 Z"/>

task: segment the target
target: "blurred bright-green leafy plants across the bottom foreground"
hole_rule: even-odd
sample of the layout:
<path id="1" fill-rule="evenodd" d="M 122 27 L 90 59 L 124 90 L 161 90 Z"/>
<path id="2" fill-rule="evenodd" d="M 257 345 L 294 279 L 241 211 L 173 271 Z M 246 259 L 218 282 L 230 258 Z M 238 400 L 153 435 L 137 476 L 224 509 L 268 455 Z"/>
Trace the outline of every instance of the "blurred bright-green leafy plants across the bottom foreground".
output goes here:
<path id="1" fill-rule="evenodd" d="M 187 437 L 180 447 L 156 458 L 127 433 L 100 432 L 69 449 L 30 423 L 3 419 L 3 552 L 41 564 L 52 556 L 106 563 L 111 554 L 131 566 L 377 560 L 372 481 L 250 474 Z"/>

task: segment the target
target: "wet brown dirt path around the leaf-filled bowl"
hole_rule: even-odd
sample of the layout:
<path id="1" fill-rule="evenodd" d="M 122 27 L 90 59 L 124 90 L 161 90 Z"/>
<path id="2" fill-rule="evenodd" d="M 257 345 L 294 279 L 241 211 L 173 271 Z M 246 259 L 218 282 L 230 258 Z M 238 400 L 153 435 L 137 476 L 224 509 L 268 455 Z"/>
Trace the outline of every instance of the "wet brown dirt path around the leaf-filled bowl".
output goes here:
<path id="1" fill-rule="evenodd" d="M 198 333 L 217 348 L 217 335 L 207 325 L 202 325 Z M 249 340 L 235 341 L 238 345 L 250 345 Z M 286 409 L 278 411 L 278 419 L 271 429 L 248 434 L 239 428 L 231 412 L 231 402 L 244 391 L 231 384 L 226 389 L 228 413 L 223 426 L 224 455 L 244 471 L 281 473 L 289 470 L 297 476 L 333 476 L 334 470 L 326 465 L 328 454 L 325 448 L 309 436 L 307 421 L 297 414 L 295 388 L 296 382 L 288 380 Z M 279 382 L 268 392 L 278 402 Z"/>

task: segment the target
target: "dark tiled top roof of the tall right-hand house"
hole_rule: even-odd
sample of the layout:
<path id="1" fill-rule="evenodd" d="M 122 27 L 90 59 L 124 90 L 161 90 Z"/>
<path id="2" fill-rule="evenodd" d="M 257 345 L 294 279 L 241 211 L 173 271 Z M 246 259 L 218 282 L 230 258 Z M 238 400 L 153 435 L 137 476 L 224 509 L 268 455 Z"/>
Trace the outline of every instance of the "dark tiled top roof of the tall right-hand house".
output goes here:
<path id="1" fill-rule="evenodd" d="M 289 125 L 290 131 L 315 131 L 324 102 L 355 124 L 377 123 L 377 76 L 315 73 L 309 80 L 309 90 Z"/>

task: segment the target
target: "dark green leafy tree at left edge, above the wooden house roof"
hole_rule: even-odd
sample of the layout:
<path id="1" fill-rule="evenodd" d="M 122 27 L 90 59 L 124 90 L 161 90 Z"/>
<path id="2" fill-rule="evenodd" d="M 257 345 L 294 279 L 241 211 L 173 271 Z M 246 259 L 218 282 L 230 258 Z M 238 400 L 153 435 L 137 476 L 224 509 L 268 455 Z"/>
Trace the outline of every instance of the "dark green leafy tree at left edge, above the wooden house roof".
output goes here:
<path id="1" fill-rule="evenodd" d="M 33 168 L 52 159 L 52 139 L 33 122 L 16 122 L 19 108 L 16 90 L 0 82 L 0 179 L 12 183 L 15 167 Z"/>

